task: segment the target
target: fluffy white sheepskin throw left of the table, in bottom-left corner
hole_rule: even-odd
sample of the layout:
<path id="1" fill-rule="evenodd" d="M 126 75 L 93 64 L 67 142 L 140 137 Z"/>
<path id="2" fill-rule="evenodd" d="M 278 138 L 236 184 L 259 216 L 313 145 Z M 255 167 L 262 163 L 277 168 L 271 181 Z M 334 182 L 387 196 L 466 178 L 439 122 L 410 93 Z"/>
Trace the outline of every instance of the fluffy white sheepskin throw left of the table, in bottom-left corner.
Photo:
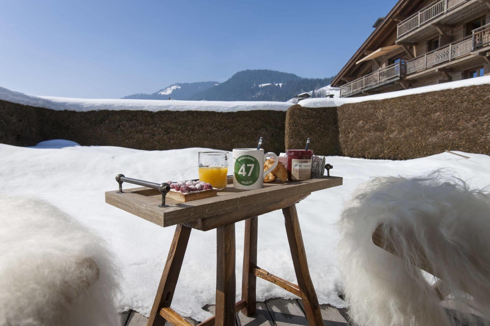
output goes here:
<path id="1" fill-rule="evenodd" d="M 111 257 L 49 203 L 0 194 L 0 326 L 120 325 Z"/>

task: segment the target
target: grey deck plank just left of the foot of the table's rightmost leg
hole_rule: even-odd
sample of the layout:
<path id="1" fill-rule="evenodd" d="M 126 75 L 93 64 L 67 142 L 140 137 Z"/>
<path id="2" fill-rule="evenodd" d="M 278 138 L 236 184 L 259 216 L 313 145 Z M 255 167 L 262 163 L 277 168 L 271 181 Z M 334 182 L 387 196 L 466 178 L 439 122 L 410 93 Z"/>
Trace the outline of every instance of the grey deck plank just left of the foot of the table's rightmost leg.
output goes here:
<path id="1" fill-rule="evenodd" d="M 308 326 L 306 315 L 294 299 L 266 300 L 272 321 L 276 326 L 304 325 Z"/>

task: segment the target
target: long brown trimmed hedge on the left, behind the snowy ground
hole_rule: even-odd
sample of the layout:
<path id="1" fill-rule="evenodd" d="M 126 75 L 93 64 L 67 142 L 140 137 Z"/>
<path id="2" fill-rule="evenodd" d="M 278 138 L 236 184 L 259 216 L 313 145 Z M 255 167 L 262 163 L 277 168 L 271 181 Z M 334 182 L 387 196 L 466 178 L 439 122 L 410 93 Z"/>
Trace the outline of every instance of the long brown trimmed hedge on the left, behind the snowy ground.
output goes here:
<path id="1" fill-rule="evenodd" d="M 32 146 L 67 139 L 80 145 L 146 150 L 254 147 L 284 151 L 282 111 L 55 111 L 0 101 L 0 142 Z M 6 128 L 5 128 L 6 127 Z"/>

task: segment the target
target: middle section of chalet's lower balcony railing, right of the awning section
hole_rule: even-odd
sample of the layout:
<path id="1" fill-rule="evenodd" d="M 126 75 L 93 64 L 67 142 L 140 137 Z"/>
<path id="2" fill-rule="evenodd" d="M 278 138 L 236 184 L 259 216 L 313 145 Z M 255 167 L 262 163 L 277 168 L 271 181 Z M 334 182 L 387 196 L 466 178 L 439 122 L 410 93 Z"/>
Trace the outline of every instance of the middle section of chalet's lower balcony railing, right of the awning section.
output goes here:
<path id="1" fill-rule="evenodd" d="M 448 44 L 445 47 L 425 53 L 422 56 L 407 61 L 407 74 L 420 70 L 426 70 L 432 66 L 451 61 L 459 56 L 470 53 L 473 50 L 472 37 L 463 41 Z"/>

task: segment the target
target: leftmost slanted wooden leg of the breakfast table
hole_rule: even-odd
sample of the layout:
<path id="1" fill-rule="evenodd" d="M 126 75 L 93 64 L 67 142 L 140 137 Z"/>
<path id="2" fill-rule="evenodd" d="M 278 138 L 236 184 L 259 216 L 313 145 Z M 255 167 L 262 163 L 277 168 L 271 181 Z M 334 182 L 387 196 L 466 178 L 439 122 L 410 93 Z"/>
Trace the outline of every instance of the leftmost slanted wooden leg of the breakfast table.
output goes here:
<path id="1" fill-rule="evenodd" d="M 147 326 L 165 325 L 165 319 L 160 316 L 160 310 L 163 307 L 170 307 L 170 304 L 172 303 L 173 292 L 175 291 L 175 285 L 179 278 L 180 268 L 182 267 L 182 261 L 184 260 L 184 254 L 187 249 L 191 230 L 191 228 L 182 224 L 177 225 L 175 228 L 172 245 L 170 246 L 167 262 L 165 263 L 162 278 L 158 285 Z"/>

